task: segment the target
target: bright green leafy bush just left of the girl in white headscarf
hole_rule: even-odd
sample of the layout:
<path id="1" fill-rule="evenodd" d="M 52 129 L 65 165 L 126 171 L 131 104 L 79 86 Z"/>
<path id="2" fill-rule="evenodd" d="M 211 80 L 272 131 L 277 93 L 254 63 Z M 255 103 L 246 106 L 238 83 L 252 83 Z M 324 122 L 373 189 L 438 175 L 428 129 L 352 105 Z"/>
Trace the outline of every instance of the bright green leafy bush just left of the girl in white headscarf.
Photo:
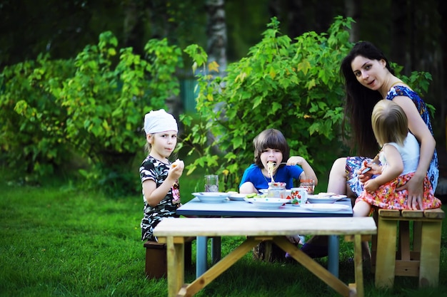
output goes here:
<path id="1" fill-rule="evenodd" d="M 51 90 L 69 115 L 68 137 L 94 162 L 134 155 L 144 113 L 164 108 L 164 100 L 179 93 L 172 78 L 181 66 L 178 49 L 152 40 L 145 48 L 148 61 L 123 48 L 114 66 L 116 45 L 111 32 L 101 33 L 98 46 L 86 46 L 76 57 L 75 75 Z"/>

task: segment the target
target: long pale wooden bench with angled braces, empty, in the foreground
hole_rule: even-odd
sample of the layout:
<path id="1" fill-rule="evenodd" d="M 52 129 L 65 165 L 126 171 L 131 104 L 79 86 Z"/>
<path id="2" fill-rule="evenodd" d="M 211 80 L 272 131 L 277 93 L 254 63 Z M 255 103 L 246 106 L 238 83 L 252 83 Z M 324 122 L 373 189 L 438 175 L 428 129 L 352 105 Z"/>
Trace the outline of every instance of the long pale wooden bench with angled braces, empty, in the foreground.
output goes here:
<path id="1" fill-rule="evenodd" d="M 165 219 L 154 229 L 168 248 L 168 296 L 193 296 L 261 241 L 273 241 L 342 296 L 363 297 L 361 241 L 376 234 L 372 217 L 190 218 Z M 354 241 L 355 283 L 346 285 L 291 244 L 287 235 L 343 235 Z M 184 283 L 184 239 L 187 236 L 246 236 L 246 240 L 192 283 Z"/>

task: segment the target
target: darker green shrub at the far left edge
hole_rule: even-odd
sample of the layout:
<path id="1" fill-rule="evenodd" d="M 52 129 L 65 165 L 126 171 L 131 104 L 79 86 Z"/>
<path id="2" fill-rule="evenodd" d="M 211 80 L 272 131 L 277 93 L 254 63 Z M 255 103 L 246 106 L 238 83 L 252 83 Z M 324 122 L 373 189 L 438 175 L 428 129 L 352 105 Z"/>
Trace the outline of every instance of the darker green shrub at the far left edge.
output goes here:
<path id="1" fill-rule="evenodd" d="M 54 173 L 68 160 L 66 112 L 49 93 L 74 73 L 72 61 L 24 61 L 0 74 L 0 150 L 2 159 L 28 181 Z"/>

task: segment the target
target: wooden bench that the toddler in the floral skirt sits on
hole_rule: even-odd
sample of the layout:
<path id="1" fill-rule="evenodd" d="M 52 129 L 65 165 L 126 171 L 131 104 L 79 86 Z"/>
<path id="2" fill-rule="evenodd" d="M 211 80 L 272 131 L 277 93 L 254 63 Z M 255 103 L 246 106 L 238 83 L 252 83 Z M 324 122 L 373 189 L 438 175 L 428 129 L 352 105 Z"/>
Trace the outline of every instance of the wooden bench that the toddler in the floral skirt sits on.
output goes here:
<path id="1" fill-rule="evenodd" d="M 438 286 L 444 217 L 442 209 L 375 212 L 378 229 L 371 244 L 371 265 L 376 287 L 392 287 L 394 276 L 417 276 L 419 286 Z"/>

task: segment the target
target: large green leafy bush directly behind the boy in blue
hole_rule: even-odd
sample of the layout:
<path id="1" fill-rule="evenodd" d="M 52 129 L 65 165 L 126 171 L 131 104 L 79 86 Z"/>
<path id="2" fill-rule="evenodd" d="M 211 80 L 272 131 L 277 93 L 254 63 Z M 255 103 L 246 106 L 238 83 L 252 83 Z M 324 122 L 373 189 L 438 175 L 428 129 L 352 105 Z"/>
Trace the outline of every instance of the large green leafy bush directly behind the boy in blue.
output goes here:
<path id="1" fill-rule="evenodd" d="M 199 123 L 191 125 L 188 115 L 182 117 L 191 129 L 183 145 L 199 152 L 188 173 L 205 167 L 224 174 L 226 189 L 237 189 L 253 161 L 253 137 L 270 127 L 283 132 L 291 155 L 301 155 L 317 172 L 325 172 L 341 147 L 343 84 L 338 68 L 352 46 L 346 31 L 351 21 L 338 17 L 328 33 L 308 32 L 292 42 L 273 18 L 262 41 L 230 64 L 224 78 L 208 72 L 215 66 L 206 65 L 203 49 L 186 48 L 194 66 L 201 68 Z M 214 147 L 222 153 L 216 154 Z"/>

